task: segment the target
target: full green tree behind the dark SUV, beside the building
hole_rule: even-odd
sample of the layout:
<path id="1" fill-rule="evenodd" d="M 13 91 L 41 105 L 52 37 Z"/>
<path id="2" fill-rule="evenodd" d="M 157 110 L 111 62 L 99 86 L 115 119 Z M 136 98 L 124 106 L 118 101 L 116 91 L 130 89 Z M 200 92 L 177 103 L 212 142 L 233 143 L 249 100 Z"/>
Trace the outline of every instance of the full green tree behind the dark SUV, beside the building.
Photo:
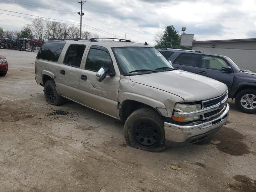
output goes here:
<path id="1" fill-rule="evenodd" d="M 167 26 L 164 32 L 159 32 L 155 36 L 155 48 L 180 48 L 180 34 L 173 25 Z"/>

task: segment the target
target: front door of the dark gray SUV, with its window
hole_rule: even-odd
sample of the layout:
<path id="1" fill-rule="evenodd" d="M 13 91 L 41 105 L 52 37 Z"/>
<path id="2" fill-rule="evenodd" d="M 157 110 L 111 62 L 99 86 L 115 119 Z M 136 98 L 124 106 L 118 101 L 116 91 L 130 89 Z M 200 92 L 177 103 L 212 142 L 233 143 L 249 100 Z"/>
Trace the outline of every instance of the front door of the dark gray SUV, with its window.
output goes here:
<path id="1" fill-rule="evenodd" d="M 234 72 L 227 73 L 222 71 L 221 68 L 224 66 L 230 66 L 224 58 L 202 55 L 198 74 L 216 79 L 226 84 L 230 91 L 233 83 Z"/>

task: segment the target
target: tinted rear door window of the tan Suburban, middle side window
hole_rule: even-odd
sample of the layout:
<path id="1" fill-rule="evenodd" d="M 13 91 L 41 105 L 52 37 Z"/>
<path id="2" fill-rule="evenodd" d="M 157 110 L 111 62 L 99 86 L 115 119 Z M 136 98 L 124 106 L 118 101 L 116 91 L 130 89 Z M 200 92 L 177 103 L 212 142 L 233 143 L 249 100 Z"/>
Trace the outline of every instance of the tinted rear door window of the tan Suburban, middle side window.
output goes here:
<path id="1" fill-rule="evenodd" d="M 64 64 L 80 68 L 85 45 L 70 45 L 65 56 Z"/>

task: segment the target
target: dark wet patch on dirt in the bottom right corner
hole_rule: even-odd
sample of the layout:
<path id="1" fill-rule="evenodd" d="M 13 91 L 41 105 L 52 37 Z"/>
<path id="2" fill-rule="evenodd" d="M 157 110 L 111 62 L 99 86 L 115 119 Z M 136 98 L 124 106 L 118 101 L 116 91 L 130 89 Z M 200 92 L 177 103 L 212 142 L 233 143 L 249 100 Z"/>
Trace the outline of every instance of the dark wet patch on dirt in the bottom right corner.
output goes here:
<path id="1" fill-rule="evenodd" d="M 233 177 L 236 181 L 235 184 L 229 184 L 229 187 L 238 192 L 255 192 L 256 180 L 252 180 L 244 175 L 236 175 Z"/>

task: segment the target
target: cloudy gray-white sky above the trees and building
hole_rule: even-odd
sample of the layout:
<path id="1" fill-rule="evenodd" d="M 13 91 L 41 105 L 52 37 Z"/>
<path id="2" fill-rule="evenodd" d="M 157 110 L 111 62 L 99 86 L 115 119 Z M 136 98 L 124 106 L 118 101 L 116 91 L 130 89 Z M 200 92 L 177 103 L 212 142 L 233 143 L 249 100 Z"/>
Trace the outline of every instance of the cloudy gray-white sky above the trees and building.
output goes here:
<path id="1" fill-rule="evenodd" d="M 35 16 L 80 22 L 78 0 L 0 0 L 0 9 L 0 13 L 28 17 L 0 14 L 5 30 L 20 30 Z M 255 10 L 256 0 L 87 0 L 82 30 L 152 45 L 155 35 L 168 25 L 179 33 L 186 27 L 196 40 L 256 38 Z"/>

